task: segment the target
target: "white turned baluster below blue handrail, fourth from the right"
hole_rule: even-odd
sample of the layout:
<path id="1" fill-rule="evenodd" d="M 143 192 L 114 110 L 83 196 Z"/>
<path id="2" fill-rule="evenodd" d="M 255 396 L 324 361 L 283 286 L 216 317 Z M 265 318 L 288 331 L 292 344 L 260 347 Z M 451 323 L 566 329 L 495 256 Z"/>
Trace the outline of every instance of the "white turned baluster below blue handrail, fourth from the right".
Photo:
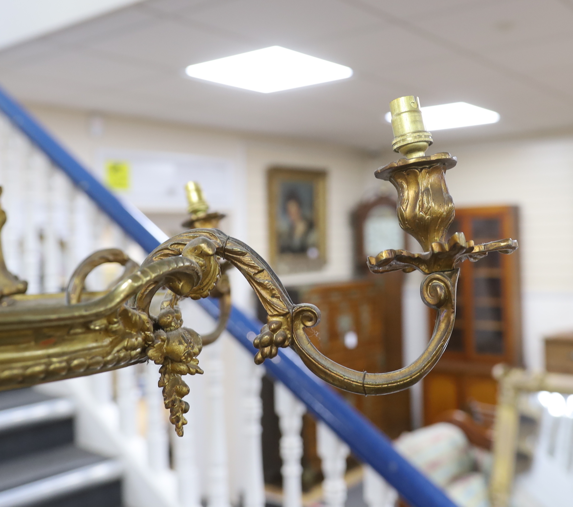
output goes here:
<path id="1" fill-rule="evenodd" d="M 262 471 L 262 400 L 261 387 L 264 368 L 257 366 L 244 351 L 237 355 L 242 387 L 242 433 L 244 435 L 244 469 L 242 482 L 245 507 L 264 507 L 265 480 Z"/>

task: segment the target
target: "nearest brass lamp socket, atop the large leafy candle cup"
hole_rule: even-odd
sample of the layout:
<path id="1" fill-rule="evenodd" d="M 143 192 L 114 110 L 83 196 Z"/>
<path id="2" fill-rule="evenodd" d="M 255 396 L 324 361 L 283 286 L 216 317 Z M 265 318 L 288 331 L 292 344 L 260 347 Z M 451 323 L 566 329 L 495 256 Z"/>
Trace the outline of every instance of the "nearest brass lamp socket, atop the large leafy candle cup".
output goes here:
<path id="1" fill-rule="evenodd" d="M 419 98 L 409 95 L 394 99 L 390 102 L 390 113 L 394 132 L 392 149 L 407 159 L 425 156 L 434 141 L 424 126 Z"/>

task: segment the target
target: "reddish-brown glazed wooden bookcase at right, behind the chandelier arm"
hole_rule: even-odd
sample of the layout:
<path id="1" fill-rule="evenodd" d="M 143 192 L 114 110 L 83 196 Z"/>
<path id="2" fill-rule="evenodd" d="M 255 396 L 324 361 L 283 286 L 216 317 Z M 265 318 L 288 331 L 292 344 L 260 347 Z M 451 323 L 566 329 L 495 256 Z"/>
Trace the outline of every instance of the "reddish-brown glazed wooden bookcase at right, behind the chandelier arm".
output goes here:
<path id="1" fill-rule="evenodd" d="M 458 208 L 449 234 L 486 243 L 519 240 L 517 208 Z M 490 253 L 461 264 L 456 324 L 448 348 L 424 380 L 424 421 L 438 421 L 446 410 L 468 410 L 477 401 L 494 405 L 497 363 L 521 366 L 521 291 L 519 249 L 512 255 Z M 430 330 L 434 311 L 429 312 Z"/>

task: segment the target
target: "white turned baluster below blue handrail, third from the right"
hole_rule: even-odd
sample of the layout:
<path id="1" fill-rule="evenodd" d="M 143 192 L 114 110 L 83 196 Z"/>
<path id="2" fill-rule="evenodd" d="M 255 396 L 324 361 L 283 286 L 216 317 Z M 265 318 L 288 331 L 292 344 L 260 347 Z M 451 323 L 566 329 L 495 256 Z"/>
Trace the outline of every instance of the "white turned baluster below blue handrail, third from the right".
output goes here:
<path id="1" fill-rule="evenodd" d="M 282 505 L 303 505 L 303 415 L 307 411 L 295 395 L 280 382 L 274 383 L 274 411 L 281 430 L 280 454 L 282 459 Z"/>

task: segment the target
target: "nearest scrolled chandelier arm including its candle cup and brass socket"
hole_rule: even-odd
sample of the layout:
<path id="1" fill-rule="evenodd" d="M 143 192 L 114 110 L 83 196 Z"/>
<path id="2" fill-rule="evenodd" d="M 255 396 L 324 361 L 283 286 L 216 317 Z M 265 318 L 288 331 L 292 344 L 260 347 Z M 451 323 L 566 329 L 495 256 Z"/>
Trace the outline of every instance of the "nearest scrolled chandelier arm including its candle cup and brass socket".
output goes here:
<path id="1" fill-rule="evenodd" d="M 446 241 L 455 210 L 445 172 L 456 165 L 456 157 L 449 153 L 425 156 L 433 140 L 423 125 L 417 97 L 398 98 L 390 103 L 390 110 L 393 148 L 406 158 L 378 169 L 375 176 L 390 181 L 397 189 L 399 224 L 421 244 L 424 253 L 384 250 L 369 257 L 367 263 L 374 273 L 418 270 L 426 275 L 421 297 L 427 306 L 437 310 L 426 350 L 411 365 L 386 373 L 367 373 L 339 365 L 321 354 L 304 331 L 320 322 L 319 309 L 312 304 L 295 306 L 268 264 L 245 244 L 227 238 L 219 255 L 248 279 L 268 313 L 268 322 L 253 341 L 258 348 L 257 364 L 273 358 L 279 347 L 291 346 L 310 370 L 340 389 L 359 394 L 387 394 L 406 389 L 432 369 L 448 344 L 456 318 L 460 272 L 457 266 L 466 259 L 475 262 L 489 252 L 512 253 L 517 248 L 517 241 L 511 238 L 476 245 L 466 241 L 461 232 Z"/>

